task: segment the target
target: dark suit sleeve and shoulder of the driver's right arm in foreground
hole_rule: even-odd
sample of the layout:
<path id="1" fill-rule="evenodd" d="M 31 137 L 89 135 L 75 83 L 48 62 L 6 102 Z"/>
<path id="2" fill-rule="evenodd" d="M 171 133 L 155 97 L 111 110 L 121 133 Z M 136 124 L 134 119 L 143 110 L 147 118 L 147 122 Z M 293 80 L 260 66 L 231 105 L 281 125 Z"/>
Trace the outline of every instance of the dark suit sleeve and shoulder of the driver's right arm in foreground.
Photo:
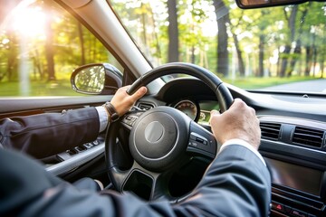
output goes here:
<path id="1" fill-rule="evenodd" d="M 187 200 L 176 204 L 165 200 L 147 203 L 131 193 L 97 194 L 78 190 L 29 159 L 5 152 L 8 151 L 0 149 L 0 215 L 4 216 L 241 217 L 269 214 L 270 175 L 262 161 L 244 146 L 225 147 Z M 24 174 L 27 168 L 30 175 Z M 34 177 L 37 180 L 33 180 Z M 17 188 L 15 183 L 22 183 L 21 180 L 24 185 Z"/>

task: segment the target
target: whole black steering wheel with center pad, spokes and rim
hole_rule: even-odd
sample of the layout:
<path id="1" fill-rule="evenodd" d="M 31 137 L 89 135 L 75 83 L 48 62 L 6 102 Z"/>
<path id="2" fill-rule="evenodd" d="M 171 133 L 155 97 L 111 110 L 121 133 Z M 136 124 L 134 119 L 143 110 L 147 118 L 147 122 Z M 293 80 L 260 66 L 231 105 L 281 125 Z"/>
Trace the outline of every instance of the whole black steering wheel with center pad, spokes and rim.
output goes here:
<path id="1" fill-rule="evenodd" d="M 168 63 L 153 69 L 136 80 L 127 92 L 132 94 L 152 80 L 173 73 L 184 73 L 204 81 L 216 93 L 222 112 L 231 106 L 233 97 L 222 80 L 211 71 L 189 63 Z M 129 141 L 120 137 L 120 143 L 124 143 L 122 149 L 129 159 L 128 168 L 121 162 L 121 146 L 117 144 L 121 127 L 129 134 Z M 177 202 L 177 198 L 168 192 L 171 174 L 193 156 L 212 161 L 217 148 L 212 133 L 183 112 L 165 106 L 130 111 L 110 124 L 105 146 L 108 175 L 117 191 L 146 191 L 148 200 L 165 197 L 170 202 Z"/>

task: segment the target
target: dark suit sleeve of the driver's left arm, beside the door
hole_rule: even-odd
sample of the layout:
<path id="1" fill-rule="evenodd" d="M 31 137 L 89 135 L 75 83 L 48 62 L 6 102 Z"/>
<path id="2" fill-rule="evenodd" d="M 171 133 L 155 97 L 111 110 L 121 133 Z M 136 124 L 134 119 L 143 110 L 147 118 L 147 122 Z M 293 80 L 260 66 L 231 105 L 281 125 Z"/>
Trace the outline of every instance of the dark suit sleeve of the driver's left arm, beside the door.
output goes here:
<path id="1" fill-rule="evenodd" d="M 0 143 L 43 158 L 95 140 L 99 128 L 94 108 L 5 118 L 0 120 Z"/>

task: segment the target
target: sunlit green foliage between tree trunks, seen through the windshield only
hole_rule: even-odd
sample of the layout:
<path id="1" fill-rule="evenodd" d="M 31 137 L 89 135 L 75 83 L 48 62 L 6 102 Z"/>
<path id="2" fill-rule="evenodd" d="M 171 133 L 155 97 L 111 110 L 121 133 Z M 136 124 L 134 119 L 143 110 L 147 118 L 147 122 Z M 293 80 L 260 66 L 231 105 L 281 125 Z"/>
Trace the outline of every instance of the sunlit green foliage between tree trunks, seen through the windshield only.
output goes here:
<path id="1" fill-rule="evenodd" d="M 154 65 L 167 62 L 168 55 L 168 28 L 167 28 L 167 0 L 142 1 L 152 7 L 152 13 L 156 19 L 156 30 L 158 31 L 160 55 L 158 50 L 151 50 L 154 54 L 150 60 Z M 139 1 L 138 1 L 139 2 Z M 240 73 L 240 59 L 233 52 L 241 52 L 244 59 L 245 76 L 279 76 L 282 61 L 289 62 L 284 69 L 292 75 L 312 75 L 321 77 L 322 70 L 316 70 L 316 62 L 325 61 L 325 5 L 320 3 L 305 3 L 296 6 L 262 8 L 256 10 L 241 10 L 237 8 L 234 1 L 224 0 L 229 8 L 230 22 L 228 26 L 229 38 L 229 63 L 230 71 L 235 75 Z M 112 0 L 111 4 L 118 14 L 125 15 L 124 4 L 120 0 Z M 178 30 L 179 30 L 179 52 L 180 61 L 194 62 L 216 71 L 216 21 L 223 12 L 214 13 L 214 1 L 180 0 L 177 2 Z M 159 5 L 159 6 L 158 6 Z M 136 8 L 138 5 L 130 5 Z M 155 8 L 160 8 L 157 10 Z M 296 14 L 294 14 L 297 12 Z M 129 11 L 130 12 L 130 11 Z M 149 15 L 148 13 L 146 15 Z M 290 24 L 292 15 L 293 24 Z M 132 33 L 138 29 L 137 22 L 130 21 L 129 15 L 124 19 Z M 149 18 L 146 20 L 150 20 Z M 150 23 L 148 23 L 150 24 Z M 206 28 L 211 28 L 207 31 Z M 290 28 L 291 27 L 291 28 Z M 292 30 L 292 31 L 291 31 Z M 298 39 L 301 44 L 298 44 Z M 144 41 L 144 40 L 143 40 Z M 147 41 L 150 41 L 147 38 Z M 236 42 L 237 41 L 237 42 Z M 289 46 L 289 51 L 284 52 L 284 47 Z M 300 46 L 300 50 L 298 50 Z M 140 46 L 142 47 L 142 46 Z M 311 48 L 312 47 L 312 48 Z M 311 48 L 311 49 L 310 49 Z M 306 52 L 312 50 L 313 52 Z M 209 57 L 209 58 L 208 58 Z M 305 59 L 309 58 L 309 61 Z M 290 64 L 291 63 L 291 64 Z M 305 71 L 308 69 L 308 74 Z M 315 71 L 311 74 L 309 71 Z M 291 73 L 290 73 L 291 72 Z M 234 76 L 234 73 L 229 73 Z"/>

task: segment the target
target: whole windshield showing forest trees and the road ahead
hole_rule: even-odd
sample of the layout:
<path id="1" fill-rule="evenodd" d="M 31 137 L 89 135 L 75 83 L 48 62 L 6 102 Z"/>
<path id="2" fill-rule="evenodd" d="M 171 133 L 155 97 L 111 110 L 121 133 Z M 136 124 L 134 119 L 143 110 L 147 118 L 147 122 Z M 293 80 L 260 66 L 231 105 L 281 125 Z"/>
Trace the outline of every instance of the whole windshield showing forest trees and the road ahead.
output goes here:
<path id="1" fill-rule="evenodd" d="M 186 61 L 246 90 L 326 93 L 326 4 L 242 10 L 227 0 L 111 0 L 154 66 Z"/>

